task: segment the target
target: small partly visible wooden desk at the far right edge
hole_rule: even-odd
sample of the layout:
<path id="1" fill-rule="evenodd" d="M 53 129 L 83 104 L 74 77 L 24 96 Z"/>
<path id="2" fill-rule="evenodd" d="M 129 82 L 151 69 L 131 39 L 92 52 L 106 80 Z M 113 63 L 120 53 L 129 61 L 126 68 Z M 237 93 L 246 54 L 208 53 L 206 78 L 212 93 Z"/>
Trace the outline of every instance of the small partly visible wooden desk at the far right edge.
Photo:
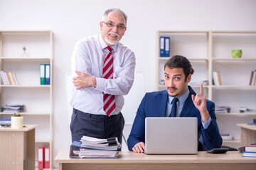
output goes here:
<path id="1" fill-rule="evenodd" d="M 244 147 L 250 145 L 252 142 L 256 142 L 256 125 L 237 124 L 240 130 L 240 146 Z"/>

